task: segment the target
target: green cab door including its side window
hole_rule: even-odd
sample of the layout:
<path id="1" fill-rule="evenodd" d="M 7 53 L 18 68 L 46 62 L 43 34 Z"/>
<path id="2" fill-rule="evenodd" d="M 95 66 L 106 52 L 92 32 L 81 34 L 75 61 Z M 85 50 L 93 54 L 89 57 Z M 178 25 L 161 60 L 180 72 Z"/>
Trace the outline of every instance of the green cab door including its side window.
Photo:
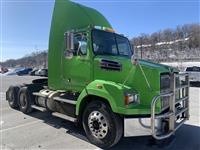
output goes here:
<path id="1" fill-rule="evenodd" d="M 66 88 L 82 91 L 91 78 L 87 33 L 74 33 L 73 57 L 63 57 L 63 80 Z"/>

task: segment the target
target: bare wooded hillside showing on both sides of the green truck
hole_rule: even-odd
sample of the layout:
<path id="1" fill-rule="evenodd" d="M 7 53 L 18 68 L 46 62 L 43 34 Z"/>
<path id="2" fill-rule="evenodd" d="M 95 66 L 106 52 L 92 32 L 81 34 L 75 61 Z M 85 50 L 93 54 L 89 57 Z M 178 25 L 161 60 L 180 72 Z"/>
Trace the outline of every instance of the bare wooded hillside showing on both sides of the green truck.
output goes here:
<path id="1" fill-rule="evenodd" d="M 200 61 L 200 25 L 187 24 L 152 34 L 141 34 L 131 40 L 138 58 L 155 62 Z M 47 51 L 10 59 L 1 66 L 47 67 Z"/>

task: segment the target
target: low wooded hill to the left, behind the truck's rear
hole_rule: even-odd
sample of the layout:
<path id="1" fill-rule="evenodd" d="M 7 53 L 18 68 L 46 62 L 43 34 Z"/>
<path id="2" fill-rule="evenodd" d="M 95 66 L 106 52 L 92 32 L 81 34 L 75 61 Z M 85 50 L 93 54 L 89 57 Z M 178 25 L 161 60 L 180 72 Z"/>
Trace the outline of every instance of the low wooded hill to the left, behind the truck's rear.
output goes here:
<path id="1" fill-rule="evenodd" d="M 47 50 L 40 52 L 33 52 L 20 59 L 9 59 L 1 62 L 0 65 L 4 67 L 39 67 L 46 68 L 47 63 Z"/>

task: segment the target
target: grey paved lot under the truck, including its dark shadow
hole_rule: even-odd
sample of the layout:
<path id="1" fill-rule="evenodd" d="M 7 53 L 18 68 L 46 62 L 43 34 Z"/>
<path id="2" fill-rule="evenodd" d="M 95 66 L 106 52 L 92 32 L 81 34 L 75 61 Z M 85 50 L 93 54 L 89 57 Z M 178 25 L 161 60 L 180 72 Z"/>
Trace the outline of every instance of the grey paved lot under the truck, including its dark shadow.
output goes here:
<path id="1" fill-rule="evenodd" d="M 73 123 L 34 111 L 25 115 L 9 108 L 5 92 L 9 85 L 30 82 L 35 77 L 1 76 L 2 149 L 99 149 L 90 144 L 81 128 Z M 155 144 L 150 136 L 125 137 L 112 149 L 200 150 L 200 88 L 190 88 L 190 120 L 177 132 L 172 142 Z M 131 131 L 131 125 L 128 131 Z"/>

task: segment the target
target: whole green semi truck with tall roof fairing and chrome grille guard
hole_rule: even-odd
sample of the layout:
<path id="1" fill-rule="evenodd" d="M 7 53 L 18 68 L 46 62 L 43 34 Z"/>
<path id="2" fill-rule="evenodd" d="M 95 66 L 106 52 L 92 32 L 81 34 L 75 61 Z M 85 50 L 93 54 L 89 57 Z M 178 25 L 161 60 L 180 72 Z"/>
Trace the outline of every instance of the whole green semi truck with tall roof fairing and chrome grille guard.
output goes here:
<path id="1" fill-rule="evenodd" d="M 170 137 L 189 119 L 187 74 L 136 60 L 129 40 L 103 15 L 67 0 L 55 1 L 48 78 L 10 86 L 6 99 L 26 114 L 48 111 L 79 123 L 101 148 L 121 139 L 127 118 L 139 119 L 156 140 Z"/>

